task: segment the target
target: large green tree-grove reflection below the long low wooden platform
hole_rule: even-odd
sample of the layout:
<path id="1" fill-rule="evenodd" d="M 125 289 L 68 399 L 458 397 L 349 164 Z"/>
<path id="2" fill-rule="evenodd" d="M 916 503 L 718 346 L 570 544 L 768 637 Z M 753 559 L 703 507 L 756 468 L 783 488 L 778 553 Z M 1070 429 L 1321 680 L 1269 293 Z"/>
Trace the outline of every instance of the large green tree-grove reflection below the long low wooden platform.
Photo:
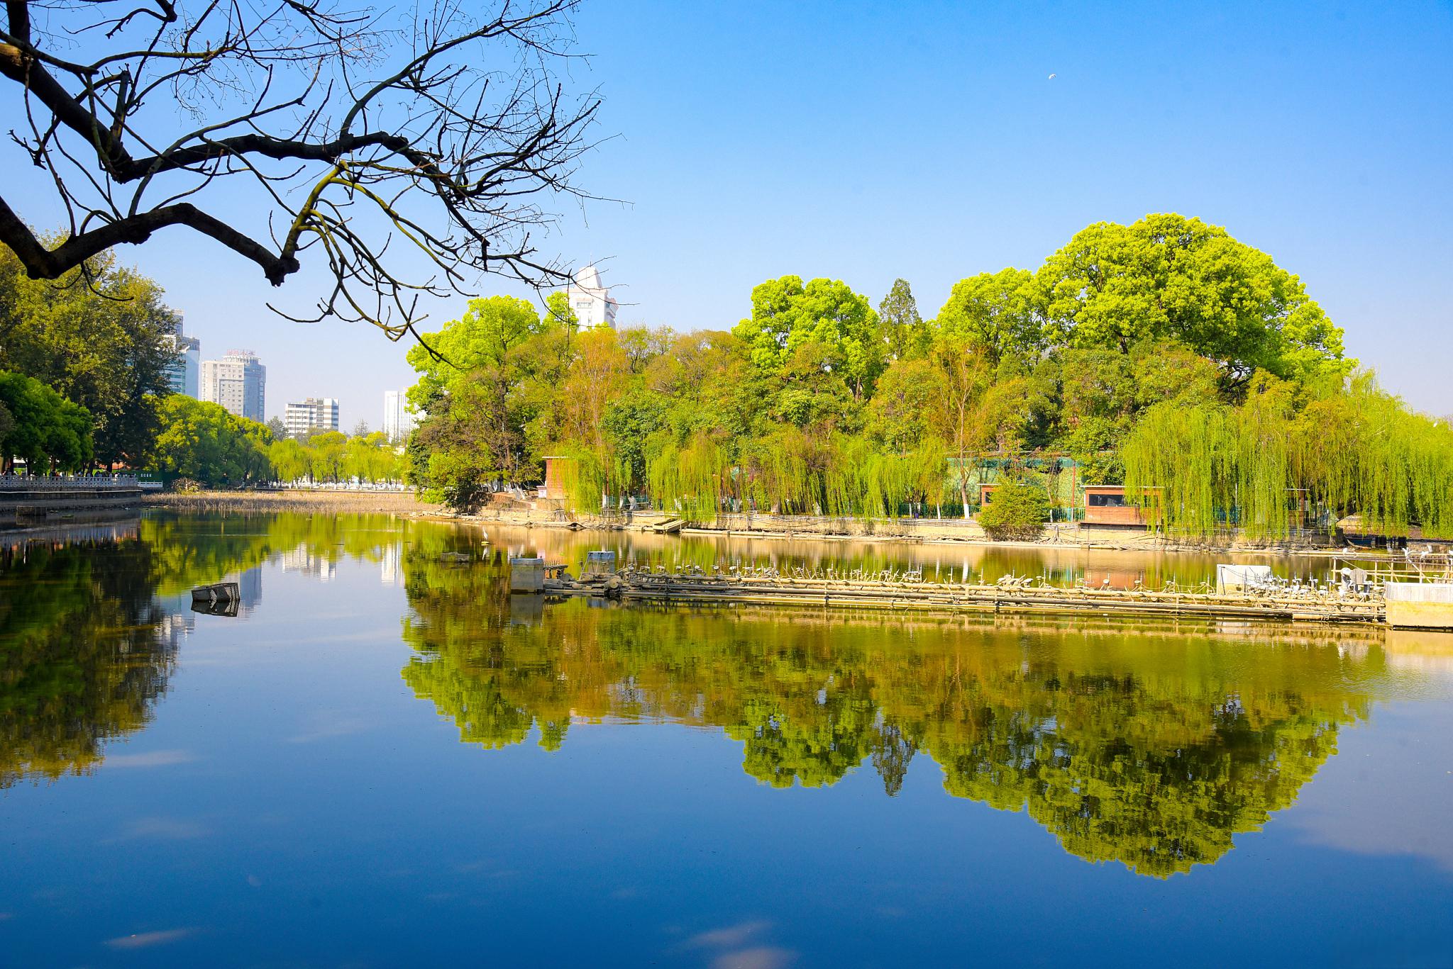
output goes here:
<path id="1" fill-rule="evenodd" d="M 482 747 L 558 748 L 572 718 L 668 719 L 742 742 L 763 783 L 865 761 L 895 795 L 1026 811 L 1067 851 L 1170 876 L 1286 808 L 1337 731 L 1389 692 L 1347 631 L 821 616 L 551 604 L 511 613 L 506 565 L 405 556 L 408 686 Z M 1353 633 L 1356 635 L 1356 633 Z"/>

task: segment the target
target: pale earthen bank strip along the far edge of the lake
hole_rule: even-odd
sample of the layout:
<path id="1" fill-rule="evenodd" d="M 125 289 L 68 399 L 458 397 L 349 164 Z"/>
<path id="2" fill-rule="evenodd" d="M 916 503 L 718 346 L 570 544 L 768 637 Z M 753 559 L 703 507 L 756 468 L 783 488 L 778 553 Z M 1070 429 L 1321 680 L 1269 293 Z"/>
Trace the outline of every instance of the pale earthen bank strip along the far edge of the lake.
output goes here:
<path id="1" fill-rule="evenodd" d="M 311 513 L 384 513 L 448 523 L 468 523 L 516 529 L 644 532 L 658 533 L 657 526 L 671 520 L 664 511 L 641 510 L 607 516 L 568 514 L 536 510 L 450 511 L 445 506 L 418 501 L 411 491 L 202 491 L 196 494 L 160 492 L 144 495 L 144 507 L 166 507 L 182 511 L 311 511 Z M 1061 524 L 1056 532 L 1046 529 L 1046 538 L 1035 542 L 994 540 L 972 520 L 902 519 L 857 522 L 849 519 L 782 516 L 722 516 L 725 527 L 700 524 L 679 529 L 695 538 L 731 538 L 761 540 L 859 542 L 872 545 L 936 545 L 1061 551 L 1119 551 L 1152 554 L 1228 554 L 1266 556 L 1316 558 L 1389 558 L 1386 551 L 1370 548 L 1331 548 L 1309 539 L 1295 539 L 1277 545 L 1175 542 L 1138 527 L 1104 527 Z M 754 527 L 741 527 L 750 524 Z M 735 526 L 735 527 L 734 527 Z"/>

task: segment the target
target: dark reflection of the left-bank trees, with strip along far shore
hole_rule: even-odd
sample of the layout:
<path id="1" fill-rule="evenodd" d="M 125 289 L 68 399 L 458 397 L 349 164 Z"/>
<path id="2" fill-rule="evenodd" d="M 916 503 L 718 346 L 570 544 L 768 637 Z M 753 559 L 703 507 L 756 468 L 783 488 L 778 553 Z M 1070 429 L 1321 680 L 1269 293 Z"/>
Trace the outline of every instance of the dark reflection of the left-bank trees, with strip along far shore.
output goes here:
<path id="1" fill-rule="evenodd" d="M 115 533 L 113 538 L 100 538 Z M 453 529 L 372 516 L 176 516 L 0 545 L 0 787 L 84 774 L 147 725 L 201 583 L 288 554 L 381 561 L 461 546 Z"/>

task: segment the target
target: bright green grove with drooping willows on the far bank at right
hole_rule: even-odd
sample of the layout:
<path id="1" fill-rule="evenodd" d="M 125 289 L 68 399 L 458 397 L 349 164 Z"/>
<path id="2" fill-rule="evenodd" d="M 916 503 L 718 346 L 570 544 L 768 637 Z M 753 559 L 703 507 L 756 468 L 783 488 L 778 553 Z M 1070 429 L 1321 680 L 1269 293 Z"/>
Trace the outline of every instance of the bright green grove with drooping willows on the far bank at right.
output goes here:
<path id="1" fill-rule="evenodd" d="M 578 510 L 894 517 L 971 514 L 1005 468 L 1062 503 L 1072 461 L 1183 535 L 1350 513 L 1453 535 L 1446 424 L 1376 389 L 1293 275 L 1199 219 L 1091 225 L 1036 270 L 960 280 L 931 320 L 902 279 L 879 311 L 792 275 L 750 307 L 731 333 L 674 334 L 475 301 L 426 337 L 449 363 L 411 356 L 410 479 L 468 506 L 556 456 Z"/>

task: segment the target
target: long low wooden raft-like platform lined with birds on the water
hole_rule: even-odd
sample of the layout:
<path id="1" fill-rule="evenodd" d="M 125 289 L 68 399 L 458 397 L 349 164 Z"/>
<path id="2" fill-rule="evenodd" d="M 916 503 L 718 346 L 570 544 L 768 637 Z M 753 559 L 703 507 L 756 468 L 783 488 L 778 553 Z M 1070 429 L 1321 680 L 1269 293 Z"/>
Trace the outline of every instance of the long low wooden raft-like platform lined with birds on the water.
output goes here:
<path id="1" fill-rule="evenodd" d="M 546 578 L 543 591 L 549 596 L 597 596 L 638 603 L 750 603 L 930 613 L 1056 612 L 1299 623 L 1382 623 L 1386 615 L 1380 597 L 1337 594 L 1229 594 L 632 571 L 590 575 L 583 581 Z"/>

